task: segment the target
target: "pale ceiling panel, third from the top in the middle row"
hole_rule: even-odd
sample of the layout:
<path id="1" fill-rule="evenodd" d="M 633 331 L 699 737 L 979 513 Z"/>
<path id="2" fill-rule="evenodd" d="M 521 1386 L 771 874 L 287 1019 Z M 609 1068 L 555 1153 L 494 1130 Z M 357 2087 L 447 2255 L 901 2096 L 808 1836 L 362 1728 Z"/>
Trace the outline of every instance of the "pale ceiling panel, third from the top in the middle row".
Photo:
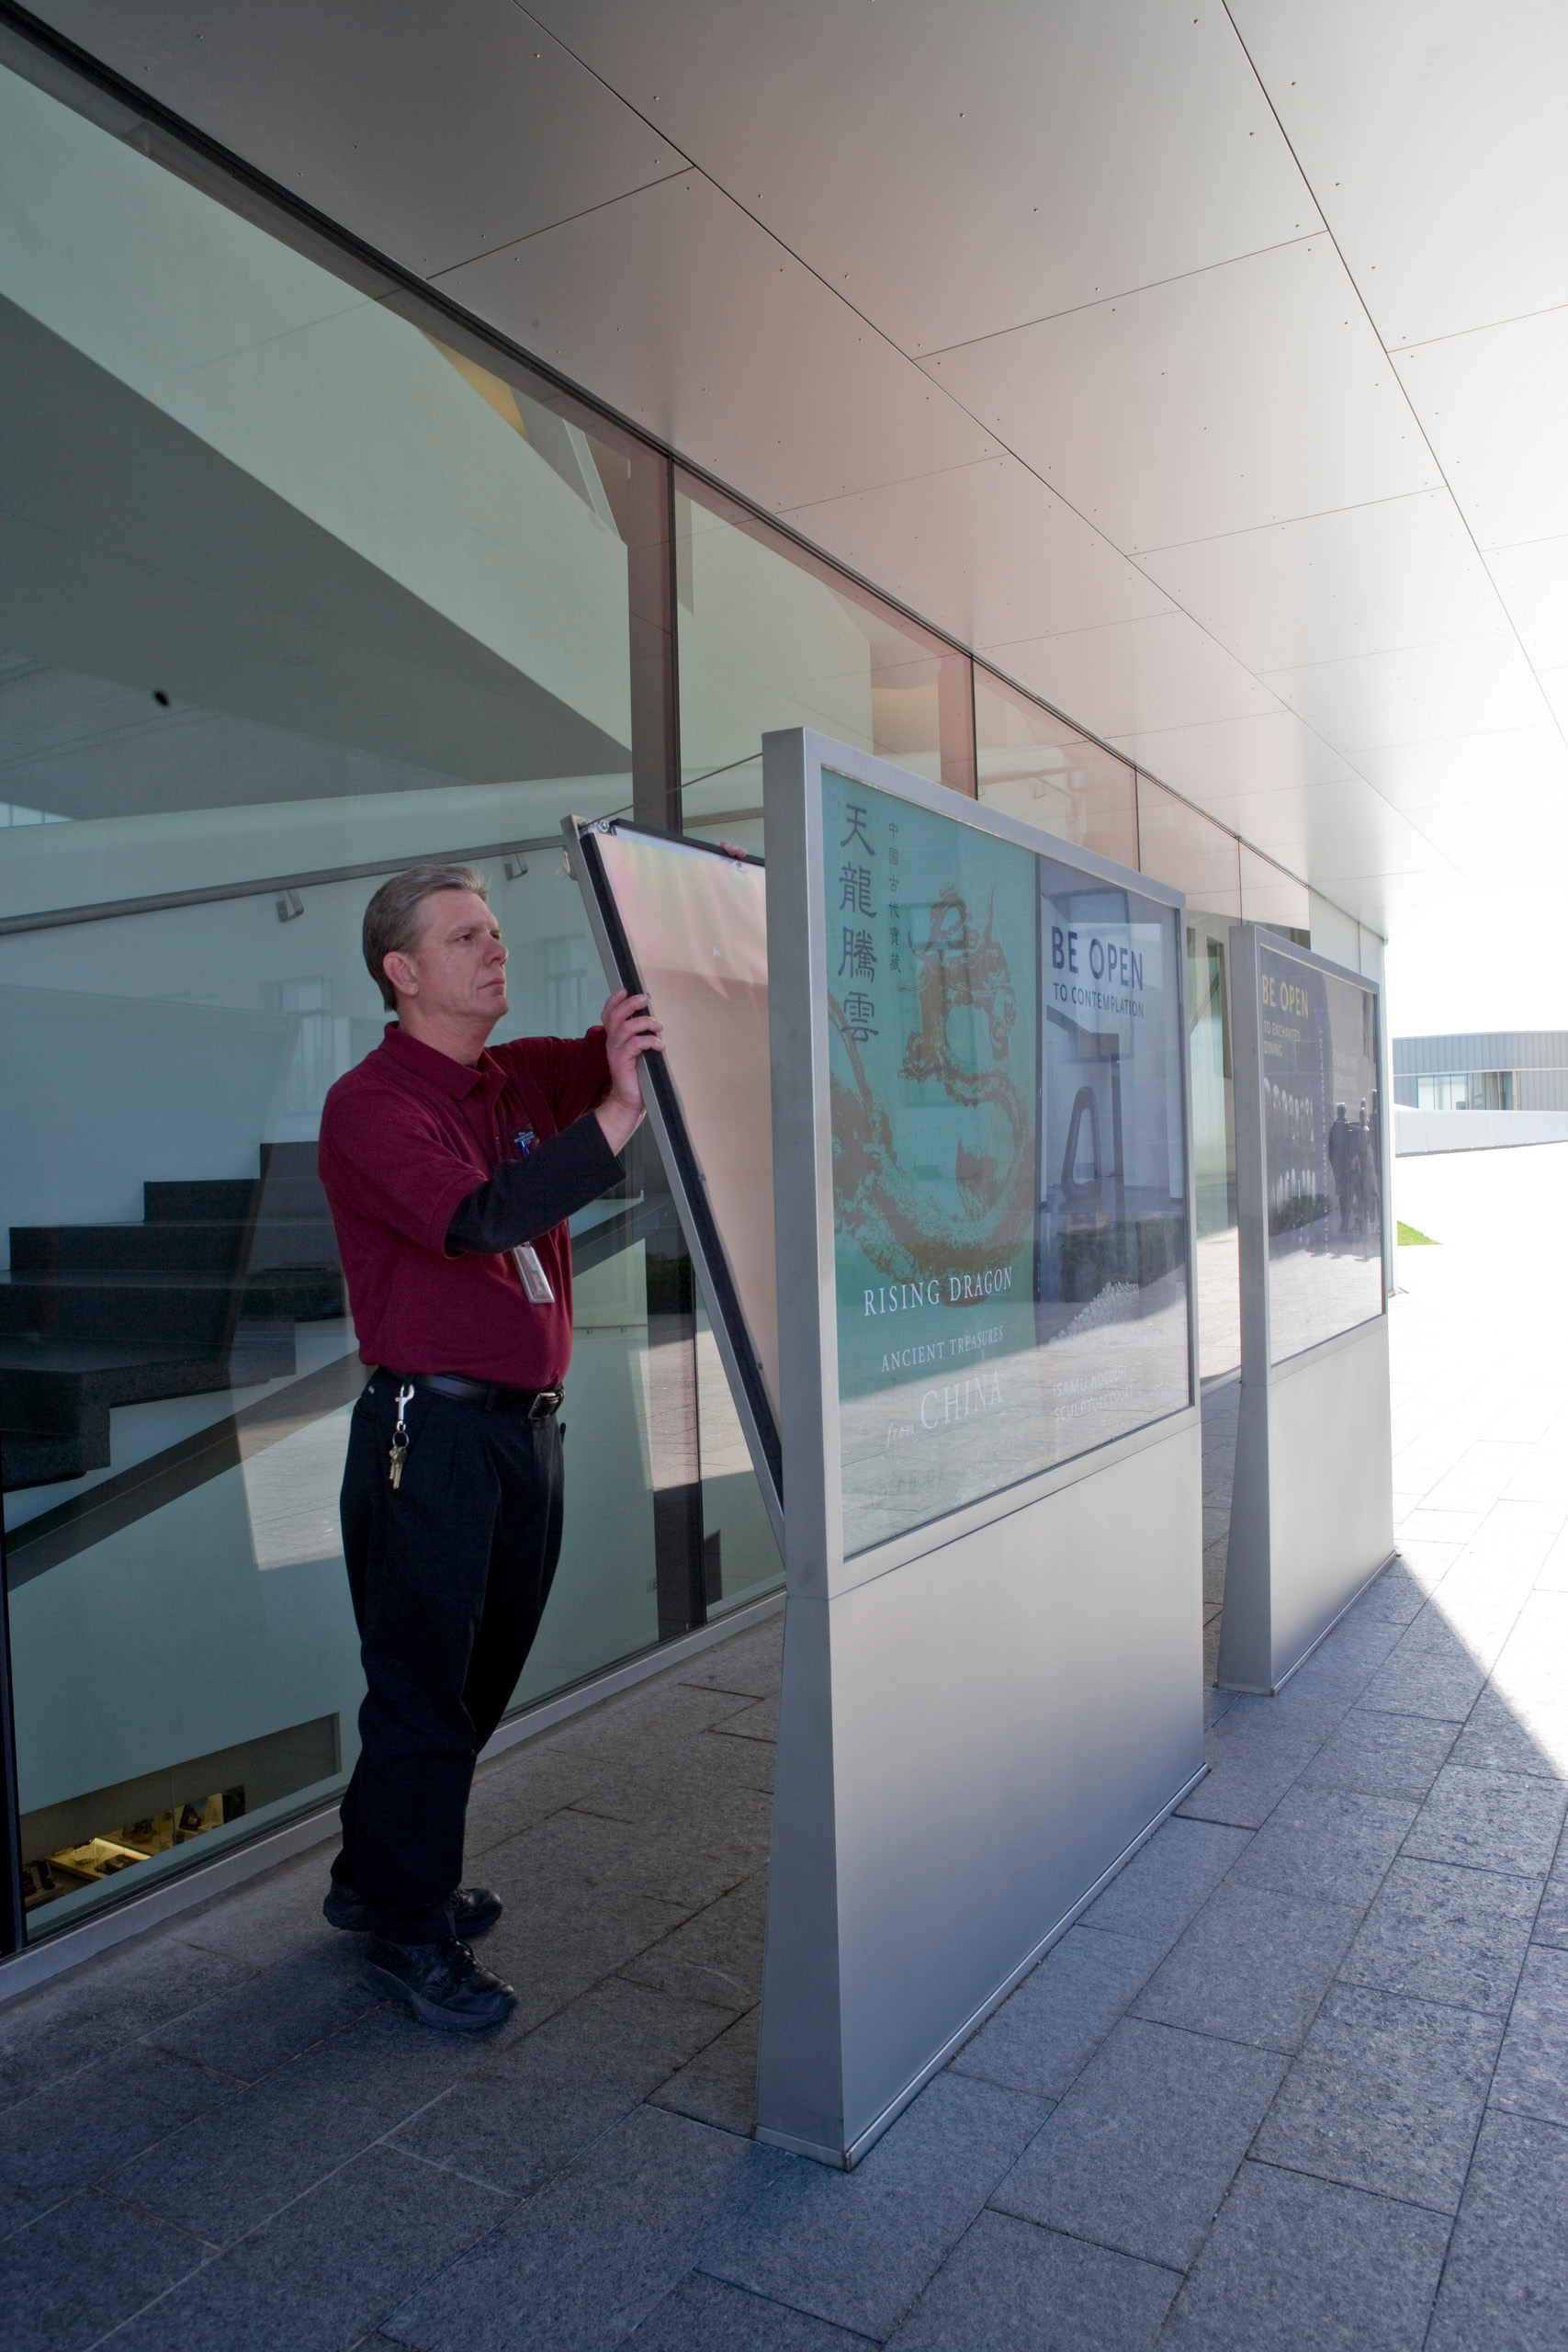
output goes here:
<path id="1" fill-rule="evenodd" d="M 1251 670 L 1507 628 L 1446 489 L 1161 548 L 1143 569 Z"/>

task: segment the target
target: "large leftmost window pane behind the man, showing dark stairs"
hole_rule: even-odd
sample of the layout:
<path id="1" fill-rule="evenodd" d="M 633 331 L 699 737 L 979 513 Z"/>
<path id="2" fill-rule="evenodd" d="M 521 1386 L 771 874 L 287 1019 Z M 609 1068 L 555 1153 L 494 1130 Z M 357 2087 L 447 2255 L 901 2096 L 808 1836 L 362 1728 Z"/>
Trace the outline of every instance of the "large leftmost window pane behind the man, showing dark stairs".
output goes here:
<path id="1" fill-rule="evenodd" d="M 496 1035 L 597 1016 L 557 828 L 656 767 L 665 470 L 12 75 L 0 139 L 0 802 L 49 818 L 0 830 L 0 1418 L 47 1931 L 353 1764 L 362 1367 L 315 1136 L 381 1040 L 360 920 L 381 873 L 465 854 L 512 943 Z M 693 1362 L 646 1345 L 639 1192 L 576 1221 L 520 1698 L 658 1630 L 661 1367 Z"/>

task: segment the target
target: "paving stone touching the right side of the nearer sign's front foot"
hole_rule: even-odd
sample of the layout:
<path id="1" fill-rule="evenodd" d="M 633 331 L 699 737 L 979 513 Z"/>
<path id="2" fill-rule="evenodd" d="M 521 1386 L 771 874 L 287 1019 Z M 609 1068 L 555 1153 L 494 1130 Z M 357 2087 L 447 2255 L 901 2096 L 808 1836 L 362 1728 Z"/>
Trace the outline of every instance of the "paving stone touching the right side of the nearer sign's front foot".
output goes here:
<path id="1" fill-rule="evenodd" d="M 938 2074 L 853 2173 L 757 2173 L 701 2258 L 712 2277 L 886 2338 L 1046 2117 L 1037 2098 Z"/>

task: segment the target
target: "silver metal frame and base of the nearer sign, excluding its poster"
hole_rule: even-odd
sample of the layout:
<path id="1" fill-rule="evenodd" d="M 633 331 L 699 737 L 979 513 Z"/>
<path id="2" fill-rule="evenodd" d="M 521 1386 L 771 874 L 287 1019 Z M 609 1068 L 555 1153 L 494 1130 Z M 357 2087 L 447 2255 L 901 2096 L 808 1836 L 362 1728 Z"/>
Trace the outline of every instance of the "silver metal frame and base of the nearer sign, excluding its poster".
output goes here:
<path id="1" fill-rule="evenodd" d="M 823 769 L 1178 915 L 1187 1404 L 844 1557 Z M 851 2166 L 1201 1776 L 1185 898 L 809 729 L 764 736 L 785 1665 L 759 2138 Z"/>

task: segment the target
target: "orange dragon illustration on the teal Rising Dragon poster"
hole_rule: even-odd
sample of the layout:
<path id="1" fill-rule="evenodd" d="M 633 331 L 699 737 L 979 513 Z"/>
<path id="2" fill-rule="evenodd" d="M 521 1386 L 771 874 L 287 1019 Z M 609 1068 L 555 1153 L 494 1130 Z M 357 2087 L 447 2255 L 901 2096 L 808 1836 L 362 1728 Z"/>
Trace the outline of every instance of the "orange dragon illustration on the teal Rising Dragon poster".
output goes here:
<path id="1" fill-rule="evenodd" d="M 905 1037 L 898 1075 L 938 1080 L 964 1108 L 992 1103 L 1011 1136 L 1004 1167 L 961 1141 L 954 1150 L 959 1216 L 947 1214 L 900 1164 L 893 1124 L 872 1087 L 853 1025 L 830 997 L 853 1087 L 832 1077 L 832 1195 L 835 1223 L 853 1235 L 865 1256 L 893 1282 L 917 1282 L 933 1272 L 980 1272 L 994 1265 L 1030 1230 L 1034 1214 L 1034 1152 L 1018 1087 L 1001 1063 L 1009 1058 L 1018 1000 L 1006 955 L 994 936 L 994 906 L 985 931 L 969 915 L 957 889 L 945 889 L 931 908 L 924 946 L 914 948 L 919 1028 Z M 947 1033 L 961 1007 L 983 1014 L 990 1068 L 966 1068 L 954 1058 Z"/>

